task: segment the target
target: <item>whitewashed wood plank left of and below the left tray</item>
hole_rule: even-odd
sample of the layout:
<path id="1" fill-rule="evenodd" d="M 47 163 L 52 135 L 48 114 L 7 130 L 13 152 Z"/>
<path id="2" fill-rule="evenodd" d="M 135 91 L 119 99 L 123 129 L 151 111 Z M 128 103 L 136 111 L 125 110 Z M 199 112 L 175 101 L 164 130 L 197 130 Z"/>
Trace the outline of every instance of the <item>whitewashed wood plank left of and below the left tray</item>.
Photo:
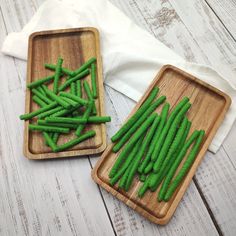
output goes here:
<path id="1" fill-rule="evenodd" d="M 0 45 L 6 35 L 0 15 Z M 23 157 L 25 76 L 0 54 L 1 235 L 113 235 L 88 158 L 30 161 Z M 17 66 L 18 68 L 18 66 Z M 23 67 L 22 67 L 23 68 Z"/>

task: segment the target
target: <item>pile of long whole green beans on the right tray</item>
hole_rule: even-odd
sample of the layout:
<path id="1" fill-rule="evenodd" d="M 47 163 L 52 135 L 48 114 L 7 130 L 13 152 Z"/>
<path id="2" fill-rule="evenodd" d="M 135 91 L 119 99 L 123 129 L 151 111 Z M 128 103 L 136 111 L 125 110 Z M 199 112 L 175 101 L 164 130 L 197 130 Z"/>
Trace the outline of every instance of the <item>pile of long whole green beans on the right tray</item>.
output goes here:
<path id="1" fill-rule="evenodd" d="M 110 185 L 118 183 L 118 188 L 129 191 L 139 176 L 143 182 L 137 192 L 140 198 L 161 185 L 157 199 L 169 201 L 191 168 L 205 132 L 195 130 L 190 134 L 189 98 L 183 97 L 170 111 L 166 97 L 157 98 L 158 92 L 159 88 L 154 87 L 136 113 L 112 136 L 112 151 L 120 152 L 109 178 Z M 156 113 L 158 106 L 162 106 L 160 115 Z"/>

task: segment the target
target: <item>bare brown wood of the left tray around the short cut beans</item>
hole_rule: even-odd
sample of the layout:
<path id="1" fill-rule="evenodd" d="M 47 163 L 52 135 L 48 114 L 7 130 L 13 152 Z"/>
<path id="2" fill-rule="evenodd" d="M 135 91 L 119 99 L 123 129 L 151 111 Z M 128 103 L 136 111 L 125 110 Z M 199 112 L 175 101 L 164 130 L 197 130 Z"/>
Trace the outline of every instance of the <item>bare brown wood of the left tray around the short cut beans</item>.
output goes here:
<path id="1" fill-rule="evenodd" d="M 98 99 L 96 99 L 96 107 L 98 115 L 105 115 L 102 61 L 97 29 L 77 28 L 33 33 L 29 37 L 27 83 L 37 78 L 53 74 L 52 71 L 44 68 L 44 63 L 56 64 L 58 56 L 64 59 L 63 66 L 72 70 L 80 67 L 81 64 L 91 57 L 97 58 Z M 90 76 L 87 76 L 85 79 L 90 83 Z M 38 106 L 32 101 L 32 94 L 27 89 L 25 112 L 32 112 L 36 109 L 38 109 Z M 29 121 L 26 121 L 24 130 L 24 155 L 29 159 L 90 155 L 100 153 L 106 148 L 106 127 L 104 124 L 89 125 L 85 131 L 89 129 L 95 130 L 95 137 L 76 145 L 68 151 L 59 153 L 53 153 L 44 144 L 41 133 L 29 132 L 28 125 Z M 68 141 L 72 138 L 71 136 L 61 136 L 58 143 Z"/>

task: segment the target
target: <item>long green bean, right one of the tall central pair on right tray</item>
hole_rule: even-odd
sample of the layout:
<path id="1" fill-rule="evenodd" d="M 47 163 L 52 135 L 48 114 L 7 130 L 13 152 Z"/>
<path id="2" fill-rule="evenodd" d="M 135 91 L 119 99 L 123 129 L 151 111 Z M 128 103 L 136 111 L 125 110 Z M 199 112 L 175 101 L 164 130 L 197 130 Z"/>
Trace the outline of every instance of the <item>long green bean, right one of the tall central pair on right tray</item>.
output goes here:
<path id="1" fill-rule="evenodd" d="M 156 160 L 156 162 L 154 163 L 153 166 L 153 171 L 155 173 L 160 171 L 161 165 L 163 163 L 163 160 L 165 159 L 167 152 L 169 150 L 169 147 L 173 141 L 173 138 L 175 137 L 175 133 L 178 129 L 178 124 L 181 122 L 181 120 L 183 119 L 183 117 L 185 116 L 185 114 L 187 113 L 187 111 L 189 110 L 189 108 L 191 107 L 190 103 L 186 103 L 182 109 L 180 110 L 180 112 L 178 113 L 178 115 L 175 117 L 172 125 L 170 126 L 170 129 L 168 131 L 168 134 L 166 136 L 165 142 L 160 150 L 160 154 Z"/>

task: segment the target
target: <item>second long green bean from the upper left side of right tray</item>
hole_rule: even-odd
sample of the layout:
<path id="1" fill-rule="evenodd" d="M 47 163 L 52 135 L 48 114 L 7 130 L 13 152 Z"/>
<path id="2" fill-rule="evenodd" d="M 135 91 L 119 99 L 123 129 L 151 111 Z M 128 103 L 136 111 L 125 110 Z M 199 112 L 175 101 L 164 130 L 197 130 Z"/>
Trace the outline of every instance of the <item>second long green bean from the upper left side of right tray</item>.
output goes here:
<path id="1" fill-rule="evenodd" d="M 127 140 L 132 136 L 132 134 L 140 127 L 140 125 L 147 119 L 150 114 L 156 110 L 156 108 L 165 101 L 166 97 L 161 96 L 156 101 L 154 101 L 149 108 L 141 115 L 141 117 L 130 127 L 129 131 L 116 143 L 112 148 L 113 152 L 118 152 L 122 146 L 127 142 Z"/>

